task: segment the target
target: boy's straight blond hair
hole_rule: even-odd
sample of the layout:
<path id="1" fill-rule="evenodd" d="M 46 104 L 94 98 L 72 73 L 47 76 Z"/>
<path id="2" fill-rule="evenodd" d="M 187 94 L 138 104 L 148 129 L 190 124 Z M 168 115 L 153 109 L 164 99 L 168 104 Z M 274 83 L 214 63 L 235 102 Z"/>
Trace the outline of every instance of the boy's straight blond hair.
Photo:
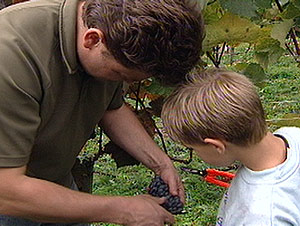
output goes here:
<path id="1" fill-rule="evenodd" d="M 267 132 L 252 82 L 244 75 L 217 69 L 191 74 L 167 98 L 162 119 L 173 140 L 190 145 L 203 144 L 205 138 L 251 145 Z"/>

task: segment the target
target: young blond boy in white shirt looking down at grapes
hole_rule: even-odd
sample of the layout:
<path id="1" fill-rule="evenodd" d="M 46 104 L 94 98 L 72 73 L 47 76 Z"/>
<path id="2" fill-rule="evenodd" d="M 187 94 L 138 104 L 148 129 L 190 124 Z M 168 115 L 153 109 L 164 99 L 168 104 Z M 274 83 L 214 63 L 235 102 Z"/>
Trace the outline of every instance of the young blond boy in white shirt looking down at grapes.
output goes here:
<path id="1" fill-rule="evenodd" d="M 270 133 L 248 78 L 224 70 L 193 74 L 166 100 L 162 119 L 173 140 L 207 163 L 242 163 L 216 225 L 300 225 L 300 129 Z"/>

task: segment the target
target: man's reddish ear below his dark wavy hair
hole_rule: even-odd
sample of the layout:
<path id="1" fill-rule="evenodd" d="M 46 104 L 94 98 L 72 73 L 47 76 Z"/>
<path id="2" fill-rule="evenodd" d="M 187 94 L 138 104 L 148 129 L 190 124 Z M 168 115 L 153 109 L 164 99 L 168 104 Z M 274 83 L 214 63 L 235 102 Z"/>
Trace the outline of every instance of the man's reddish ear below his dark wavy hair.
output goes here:
<path id="1" fill-rule="evenodd" d="M 89 28 L 83 35 L 83 46 L 88 49 L 97 47 L 99 44 L 104 43 L 104 34 L 97 28 Z"/>

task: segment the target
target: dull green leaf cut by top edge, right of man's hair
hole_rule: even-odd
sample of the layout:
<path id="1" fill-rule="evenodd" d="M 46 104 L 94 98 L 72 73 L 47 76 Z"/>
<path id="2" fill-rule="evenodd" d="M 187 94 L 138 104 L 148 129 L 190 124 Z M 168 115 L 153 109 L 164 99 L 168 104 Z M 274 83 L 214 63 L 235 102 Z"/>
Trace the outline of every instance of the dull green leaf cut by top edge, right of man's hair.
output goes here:
<path id="1" fill-rule="evenodd" d="M 252 0 L 220 0 L 223 9 L 243 17 L 257 17 L 257 6 Z"/>

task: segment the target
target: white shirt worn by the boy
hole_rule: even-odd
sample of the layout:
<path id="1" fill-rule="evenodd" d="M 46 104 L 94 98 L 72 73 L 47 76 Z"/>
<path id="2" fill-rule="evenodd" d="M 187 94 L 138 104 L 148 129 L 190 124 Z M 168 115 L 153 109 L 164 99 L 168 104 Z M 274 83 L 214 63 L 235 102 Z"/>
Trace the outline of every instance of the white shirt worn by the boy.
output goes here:
<path id="1" fill-rule="evenodd" d="M 300 203 L 294 203 L 300 193 L 291 189 L 300 186 L 299 161 L 292 159 L 259 172 L 242 166 L 222 199 L 217 225 L 300 225 Z"/>

